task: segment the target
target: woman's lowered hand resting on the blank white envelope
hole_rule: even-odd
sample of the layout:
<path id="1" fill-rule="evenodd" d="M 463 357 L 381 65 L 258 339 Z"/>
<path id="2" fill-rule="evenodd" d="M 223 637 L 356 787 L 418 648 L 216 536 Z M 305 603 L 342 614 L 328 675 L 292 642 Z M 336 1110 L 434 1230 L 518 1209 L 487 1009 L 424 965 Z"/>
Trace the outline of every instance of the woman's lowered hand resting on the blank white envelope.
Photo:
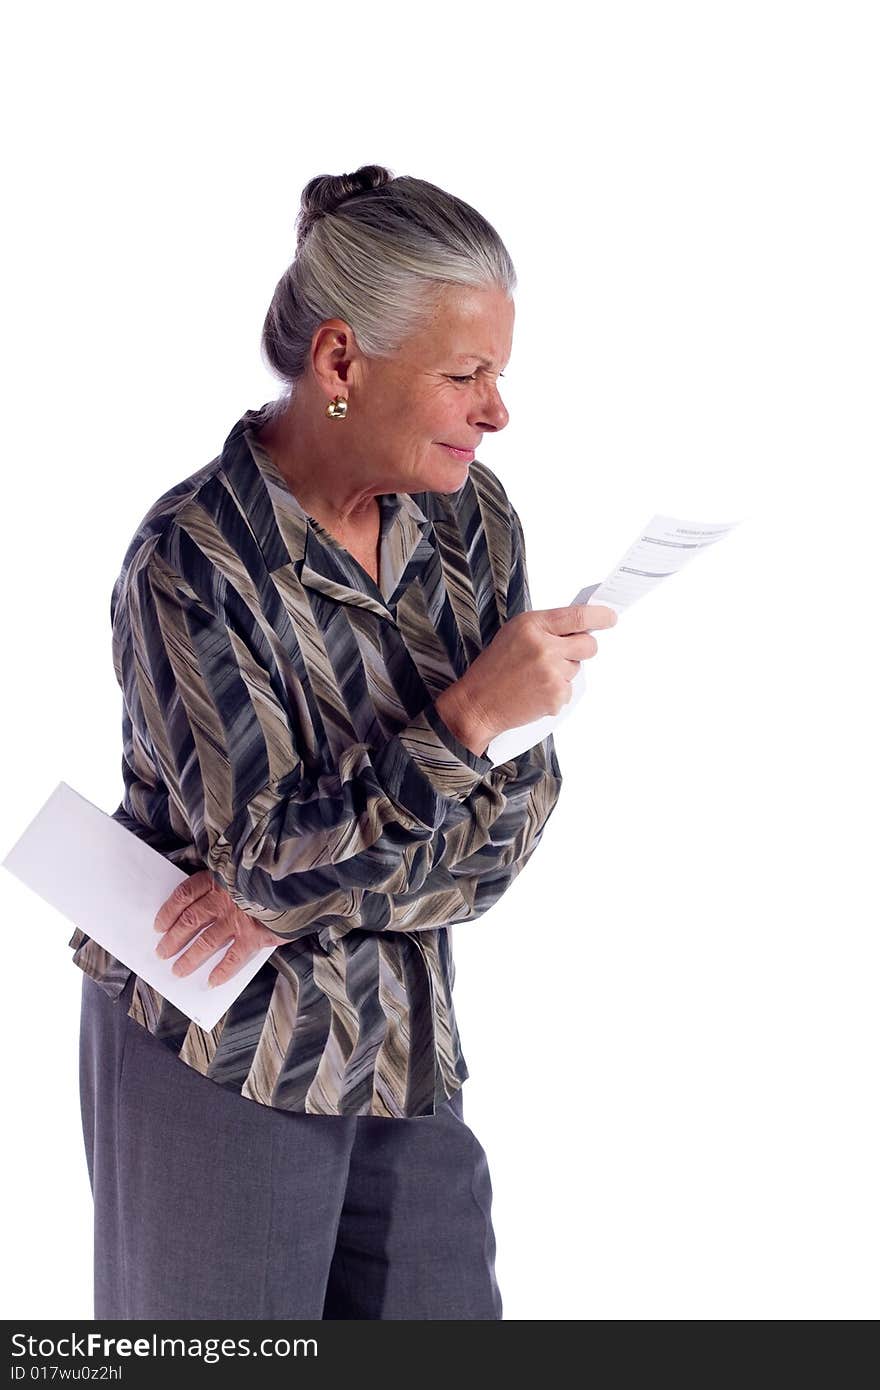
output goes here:
<path id="1" fill-rule="evenodd" d="M 217 887 L 207 869 L 200 869 L 177 885 L 156 913 L 153 926 L 164 933 L 156 947 L 156 955 L 163 959 L 177 955 L 206 927 L 189 951 L 184 951 L 171 966 L 172 972 L 181 976 L 192 974 L 224 942 L 229 942 L 225 956 L 211 970 L 209 984 L 224 984 L 257 951 L 272 942 L 285 945 L 288 940 L 277 937 L 261 922 L 242 912 L 229 894 Z"/>

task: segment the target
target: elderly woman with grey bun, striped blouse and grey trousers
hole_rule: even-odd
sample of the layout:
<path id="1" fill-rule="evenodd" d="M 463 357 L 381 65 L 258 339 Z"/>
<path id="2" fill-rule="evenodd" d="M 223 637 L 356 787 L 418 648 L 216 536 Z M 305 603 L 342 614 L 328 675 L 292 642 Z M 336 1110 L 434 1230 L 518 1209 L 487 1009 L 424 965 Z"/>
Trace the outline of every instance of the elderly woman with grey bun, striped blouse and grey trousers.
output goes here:
<path id="1" fill-rule="evenodd" d="M 442 189 L 311 179 L 263 329 L 286 391 L 128 546 L 114 819 L 189 874 L 158 954 L 228 944 L 215 983 L 277 949 L 206 1031 L 74 933 L 96 1318 L 502 1316 L 450 929 L 559 796 L 551 738 L 488 744 L 557 713 L 614 620 L 531 610 L 474 459 L 507 424 L 514 284 Z"/>

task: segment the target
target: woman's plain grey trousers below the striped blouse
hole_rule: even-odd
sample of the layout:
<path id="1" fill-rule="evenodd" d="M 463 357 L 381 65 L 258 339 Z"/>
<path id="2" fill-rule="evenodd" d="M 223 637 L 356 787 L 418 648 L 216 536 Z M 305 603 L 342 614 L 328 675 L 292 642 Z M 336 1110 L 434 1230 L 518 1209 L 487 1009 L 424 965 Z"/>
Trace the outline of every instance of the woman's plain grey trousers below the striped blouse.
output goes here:
<path id="1" fill-rule="evenodd" d="M 82 979 L 95 1318 L 499 1319 L 492 1187 L 462 1093 L 298 1115 L 200 1076 Z"/>

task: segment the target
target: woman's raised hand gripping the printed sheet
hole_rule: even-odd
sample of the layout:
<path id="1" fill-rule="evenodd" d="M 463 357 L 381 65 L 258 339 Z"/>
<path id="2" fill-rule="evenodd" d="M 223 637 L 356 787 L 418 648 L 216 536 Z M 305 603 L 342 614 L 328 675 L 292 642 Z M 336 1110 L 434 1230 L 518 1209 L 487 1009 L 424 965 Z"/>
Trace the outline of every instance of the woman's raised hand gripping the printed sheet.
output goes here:
<path id="1" fill-rule="evenodd" d="M 616 621 L 617 614 L 605 603 L 517 613 L 464 676 L 437 698 L 441 717 L 478 752 L 506 728 L 559 714 L 571 699 L 580 663 L 599 649 L 591 628 Z"/>

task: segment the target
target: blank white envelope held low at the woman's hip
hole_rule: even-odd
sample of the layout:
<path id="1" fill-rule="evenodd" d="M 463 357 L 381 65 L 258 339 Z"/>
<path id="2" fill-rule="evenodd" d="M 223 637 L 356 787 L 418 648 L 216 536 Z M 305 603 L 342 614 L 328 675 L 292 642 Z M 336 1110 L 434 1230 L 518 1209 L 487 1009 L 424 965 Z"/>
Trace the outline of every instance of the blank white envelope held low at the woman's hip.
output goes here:
<path id="1" fill-rule="evenodd" d="M 224 984 L 209 986 L 229 937 L 192 974 L 174 974 L 192 941 L 163 960 L 153 920 L 188 876 L 67 783 L 58 783 L 3 866 L 203 1029 L 214 1027 L 278 949 L 263 947 Z"/>

